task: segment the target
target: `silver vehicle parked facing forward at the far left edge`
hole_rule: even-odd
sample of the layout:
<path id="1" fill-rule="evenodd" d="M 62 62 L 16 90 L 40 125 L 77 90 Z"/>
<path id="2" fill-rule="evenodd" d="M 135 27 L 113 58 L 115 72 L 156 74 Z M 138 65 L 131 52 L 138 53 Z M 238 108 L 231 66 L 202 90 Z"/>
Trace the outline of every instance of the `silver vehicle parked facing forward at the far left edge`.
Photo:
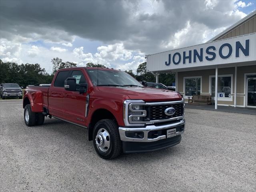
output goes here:
<path id="1" fill-rule="evenodd" d="M 6 97 L 19 97 L 22 99 L 22 88 L 16 83 L 4 83 L 0 90 L 0 97 L 2 99 Z"/>

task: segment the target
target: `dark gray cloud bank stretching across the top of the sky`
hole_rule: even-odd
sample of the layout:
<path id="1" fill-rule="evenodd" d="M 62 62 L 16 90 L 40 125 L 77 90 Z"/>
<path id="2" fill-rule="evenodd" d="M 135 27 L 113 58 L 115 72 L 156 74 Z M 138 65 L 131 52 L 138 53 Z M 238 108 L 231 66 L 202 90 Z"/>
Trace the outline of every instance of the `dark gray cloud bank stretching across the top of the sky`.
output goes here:
<path id="1" fill-rule="evenodd" d="M 231 14 L 234 2 L 0 1 L 0 34 L 19 42 L 67 43 L 74 36 L 121 41 L 128 50 L 151 54 L 202 43 L 210 38 L 204 32 L 214 35 L 213 30 L 234 24 L 244 16 Z"/>

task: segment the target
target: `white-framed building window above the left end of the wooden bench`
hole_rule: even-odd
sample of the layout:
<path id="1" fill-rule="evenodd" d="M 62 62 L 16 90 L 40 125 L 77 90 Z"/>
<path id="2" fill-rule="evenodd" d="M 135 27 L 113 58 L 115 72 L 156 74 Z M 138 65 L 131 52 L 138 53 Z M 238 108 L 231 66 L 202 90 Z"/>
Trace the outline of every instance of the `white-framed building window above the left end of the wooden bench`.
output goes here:
<path id="1" fill-rule="evenodd" d="M 201 94 L 201 77 L 185 77 L 185 96 Z"/>

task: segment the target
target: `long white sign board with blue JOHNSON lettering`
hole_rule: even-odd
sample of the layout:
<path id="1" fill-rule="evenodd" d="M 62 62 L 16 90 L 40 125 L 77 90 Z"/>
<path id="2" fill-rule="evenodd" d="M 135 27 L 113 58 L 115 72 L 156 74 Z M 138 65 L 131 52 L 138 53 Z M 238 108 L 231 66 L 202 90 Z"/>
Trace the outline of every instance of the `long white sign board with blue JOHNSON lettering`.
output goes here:
<path id="1" fill-rule="evenodd" d="M 256 33 L 147 56 L 147 71 L 256 61 Z"/>

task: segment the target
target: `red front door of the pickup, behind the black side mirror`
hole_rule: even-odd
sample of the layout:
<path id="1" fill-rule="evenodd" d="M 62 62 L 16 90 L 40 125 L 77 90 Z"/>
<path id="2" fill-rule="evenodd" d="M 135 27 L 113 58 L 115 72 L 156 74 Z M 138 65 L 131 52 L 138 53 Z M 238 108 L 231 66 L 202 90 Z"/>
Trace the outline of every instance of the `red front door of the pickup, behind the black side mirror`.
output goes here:
<path id="1" fill-rule="evenodd" d="M 65 120 L 85 126 L 86 124 L 86 92 L 79 93 L 78 84 L 88 84 L 82 70 L 73 70 L 70 77 L 76 78 L 76 91 L 63 91 L 63 116 Z M 82 88 L 82 87 L 81 87 Z"/>

